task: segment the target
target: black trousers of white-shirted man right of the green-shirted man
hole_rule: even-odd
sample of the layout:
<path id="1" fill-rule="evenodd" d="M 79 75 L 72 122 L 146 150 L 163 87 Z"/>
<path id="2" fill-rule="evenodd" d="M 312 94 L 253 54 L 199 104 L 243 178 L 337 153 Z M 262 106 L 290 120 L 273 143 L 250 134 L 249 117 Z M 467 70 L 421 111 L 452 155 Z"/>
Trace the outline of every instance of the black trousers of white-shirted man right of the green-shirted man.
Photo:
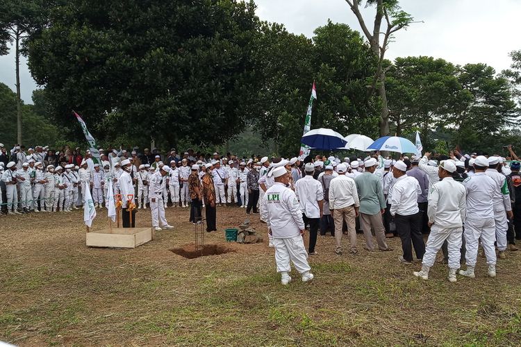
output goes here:
<path id="1" fill-rule="evenodd" d="M 395 215 L 396 231 L 402 239 L 402 251 L 404 252 L 404 259 L 408 262 L 413 261 L 413 250 L 411 247 L 411 240 L 413 242 L 414 251 L 417 259 L 423 259 L 425 253 L 425 243 L 423 242 L 423 235 L 420 231 L 420 212 L 411 214 L 409 216 Z"/>

